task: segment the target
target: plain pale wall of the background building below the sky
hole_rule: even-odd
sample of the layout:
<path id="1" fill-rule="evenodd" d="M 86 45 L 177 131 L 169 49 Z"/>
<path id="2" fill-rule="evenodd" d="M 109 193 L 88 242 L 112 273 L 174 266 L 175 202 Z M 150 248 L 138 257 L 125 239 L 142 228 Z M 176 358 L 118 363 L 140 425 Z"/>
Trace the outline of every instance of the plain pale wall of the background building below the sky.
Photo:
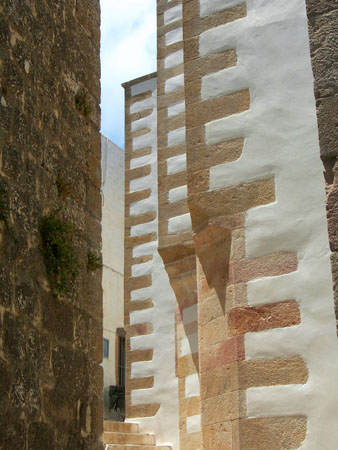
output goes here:
<path id="1" fill-rule="evenodd" d="M 105 417 L 116 419 L 109 413 L 108 387 L 116 384 L 116 328 L 124 326 L 124 151 L 105 136 L 101 148 L 103 337 L 109 340 L 109 358 L 102 363 L 103 396 Z"/>

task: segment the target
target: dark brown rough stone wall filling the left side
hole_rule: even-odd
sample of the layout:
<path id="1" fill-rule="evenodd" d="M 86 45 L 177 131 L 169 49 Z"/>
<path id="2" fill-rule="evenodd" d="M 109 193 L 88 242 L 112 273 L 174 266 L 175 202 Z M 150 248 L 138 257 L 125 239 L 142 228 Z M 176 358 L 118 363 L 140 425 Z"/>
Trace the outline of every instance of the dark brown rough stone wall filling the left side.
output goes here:
<path id="1" fill-rule="evenodd" d="M 98 0 L 0 5 L 3 449 L 102 448 L 101 270 L 88 265 L 101 247 L 99 14 Z M 43 217 L 71 224 L 62 292 Z"/>

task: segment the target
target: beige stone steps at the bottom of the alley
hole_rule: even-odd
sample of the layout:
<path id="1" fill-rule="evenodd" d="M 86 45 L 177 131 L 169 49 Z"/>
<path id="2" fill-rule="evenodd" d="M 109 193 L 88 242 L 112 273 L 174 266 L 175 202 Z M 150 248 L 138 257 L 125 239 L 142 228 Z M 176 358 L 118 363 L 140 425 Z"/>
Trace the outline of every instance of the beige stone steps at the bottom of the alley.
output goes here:
<path id="1" fill-rule="evenodd" d="M 137 423 L 104 421 L 103 442 L 106 450 L 171 450 L 156 445 L 153 434 L 141 434 Z"/>

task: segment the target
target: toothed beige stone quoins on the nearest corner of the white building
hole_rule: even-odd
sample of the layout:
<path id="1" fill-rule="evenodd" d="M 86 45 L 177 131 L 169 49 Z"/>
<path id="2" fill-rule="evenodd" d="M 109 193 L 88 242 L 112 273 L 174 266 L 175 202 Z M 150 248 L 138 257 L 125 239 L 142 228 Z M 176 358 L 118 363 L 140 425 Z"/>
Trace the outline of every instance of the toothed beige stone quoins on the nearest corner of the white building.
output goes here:
<path id="1" fill-rule="evenodd" d="M 295 326 L 300 322 L 299 309 L 293 301 L 262 309 L 247 307 L 245 283 L 248 280 L 297 268 L 297 257 L 292 254 L 276 255 L 275 259 L 273 255 L 267 256 L 262 262 L 245 259 L 242 214 L 275 200 L 274 179 L 209 190 L 209 169 L 238 160 L 244 136 L 210 146 L 206 143 L 204 125 L 249 110 L 250 93 L 246 89 L 202 100 L 202 78 L 236 66 L 237 54 L 236 49 L 230 49 L 201 58 L 199 35 L 245 16 L 245 3 L 200 18 L 198 0 L 183 2 L 188 205 L 199 258 L 198 337 L 204 450 L 251 450 L 247 444 L 251 437 L 243 435 L 244 429 L 249 434 L 254 429 L 257 431 L 253 421 L 245 420 L 248 387 L 305 383 L 307 379 L 306 367 L 299 357 L 270 362 L 244 361 L 245 333 Z M 186 362 L 179 369 L 188 370 L 187 367 Z M 261 421 L 264 433 L 269 420 Z M 271 420 L 283 428 L 278 419 Z M 298 423 L 303 438 L 304 421 Z M 284 429 L 284 432 L 288 431 Z"/>

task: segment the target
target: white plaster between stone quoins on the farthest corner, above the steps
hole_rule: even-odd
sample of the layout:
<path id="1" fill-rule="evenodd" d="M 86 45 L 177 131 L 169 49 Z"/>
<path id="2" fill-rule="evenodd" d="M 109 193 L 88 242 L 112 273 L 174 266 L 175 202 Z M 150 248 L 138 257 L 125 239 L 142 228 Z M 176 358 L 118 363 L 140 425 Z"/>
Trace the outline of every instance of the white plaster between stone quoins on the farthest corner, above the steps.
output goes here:
<path id="1" fill-rule="evenodd" d="M 177 8 L 173 8 L 177 9 Z M 168 20 L 174 16 L 169 15 Z M 152 91 L 148 99 L 134 103 L 131 112 L 156 108 L 157 80 L 153 78 L 132 87 L 133 95 L 147 90 Z M 150 174 L 130 182 L 130 192 L 150 189 L 151 195 L 144 200 L 130 206 L 132 215 L 144 212 L 158 211 L 157 200 L 157 123 L 156 109 L 147 117 L 133 122 L 133 130 L 147 128 L 149 133 L 133 139 L 133 149 L 151 147 L 151 155 L 131 160 L 131 168 L 150 166 Z M 139 122 L 139 123 L 138 123 Z M 140 236 L 151 232 L 158 233 L 158 219 L 131 227 L 132 236 Z M 159 403 L 160 409 L 154 417 L 136 418 L 132 422 L 140 424 L 143 433 L 155 433 L 157 443 L 171 445 L 174 450 L 179 449 L 178 438 L 178 382 L 175 376 L 175 311 L 176 299 L 170 286 L 162 259 L 157 251 L 158 242 L 150 242 L 135 246 L 133 256 L 152 255 L 153 259 L 144 264 L 132 266 L 132 276 L 151 275 L 152 285 L 147 288 L 136 289 L 131 292 L 132 301 L 151 299 L 154 307 L 130 313 L 130 323 L 151 323 L 153 333 L 146 336 L 131 338 L 131 349 L 153 349 L 151 361 L 132 363 L 132 378 L 154 377 L 151 389 L 138 389 L 131 392 L 133 405 Z"/>

